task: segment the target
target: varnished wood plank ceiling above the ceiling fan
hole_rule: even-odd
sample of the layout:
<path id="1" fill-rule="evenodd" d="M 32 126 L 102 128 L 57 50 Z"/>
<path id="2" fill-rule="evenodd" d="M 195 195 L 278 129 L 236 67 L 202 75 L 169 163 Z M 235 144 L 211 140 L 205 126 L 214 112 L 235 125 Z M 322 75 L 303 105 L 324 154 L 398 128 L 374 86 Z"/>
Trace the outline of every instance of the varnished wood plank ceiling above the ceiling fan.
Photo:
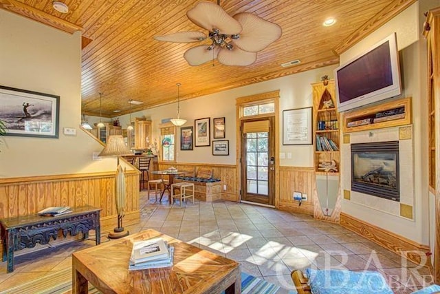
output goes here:
<path id="1" fill-rule="evenodd" d="M 199 43 L 168 43 L 153 36 L 188 30 L 205 32 L 186 17 L 197 0 L 62 0 L 63 14 L 48 0 L 0 0 L 0 8 L 52 25 L 82 32 L 83 112 L 99 116 L 132 111 L 250 85 L 338 63 L 338 54 L 404 10 L 415 0 L 228 0 L 230 15 L 251 12 L 278 23 L 283 35 L 246 67 L 217 61 L 192 67 L 183 55 Z M 328 17 L 335 25 L 324 27 Z M 206 40 L 203 43 L 210 43 Z M 281 67 L 299 59 L 299 65 Z M 114 113 L 120 110 L 120 113 Z"/>

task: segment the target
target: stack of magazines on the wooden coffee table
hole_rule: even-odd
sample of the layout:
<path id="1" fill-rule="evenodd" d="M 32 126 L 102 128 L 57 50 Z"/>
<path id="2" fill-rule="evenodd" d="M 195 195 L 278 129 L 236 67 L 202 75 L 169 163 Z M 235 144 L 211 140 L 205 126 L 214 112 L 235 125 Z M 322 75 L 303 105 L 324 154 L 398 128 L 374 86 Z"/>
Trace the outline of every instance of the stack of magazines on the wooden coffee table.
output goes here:
<path id="1" fill-rule="evenodd" d="M 174 247 L 162 238 L 133 242 L 129 270 L 156 269 L 173 266 Z"/>

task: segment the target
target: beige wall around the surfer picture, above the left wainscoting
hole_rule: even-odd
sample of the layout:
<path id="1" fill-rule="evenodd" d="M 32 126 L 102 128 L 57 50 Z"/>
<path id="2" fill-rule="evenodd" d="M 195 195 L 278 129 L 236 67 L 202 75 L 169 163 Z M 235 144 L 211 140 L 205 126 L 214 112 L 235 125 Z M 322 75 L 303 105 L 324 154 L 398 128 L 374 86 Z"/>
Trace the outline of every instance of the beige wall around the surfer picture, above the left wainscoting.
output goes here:
<path id="1" fill-rule="evenodd" d="M 78 127 L 80 33 L 67 34 L 4 10 L 0 28 L 0 84 L 61 97 L 59 138 L 2 138 L 0 178 L 115 170 L 113 159 L 91 160 L 102 146 Z M 76 128 L 77 135 L 65 136 L 64 127 Z"/>

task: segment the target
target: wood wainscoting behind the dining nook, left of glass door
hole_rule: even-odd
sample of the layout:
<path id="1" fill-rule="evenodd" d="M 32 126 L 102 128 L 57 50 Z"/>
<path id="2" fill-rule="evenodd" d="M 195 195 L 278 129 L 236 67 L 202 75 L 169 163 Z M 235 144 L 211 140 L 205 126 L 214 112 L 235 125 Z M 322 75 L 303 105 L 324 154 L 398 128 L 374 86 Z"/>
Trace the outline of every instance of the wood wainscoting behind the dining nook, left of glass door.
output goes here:
<path id="1" fill-rule="evenodd" d="M 197 168 L 203 167 L 212 169 L 212 178 L 221 180 L 221 199 L 238 202 L 239 193 L 236 189 L 236 166 L 235 165 L 216 165 L 209 163 L 186 163 L 186 162 L 158 162 L 159 170 L 165 170 L 169 167 L 175 167 L 182 171 L 192 171 L 194 176 Z M 226 187 L 226 189 L 224 189 Z"/>

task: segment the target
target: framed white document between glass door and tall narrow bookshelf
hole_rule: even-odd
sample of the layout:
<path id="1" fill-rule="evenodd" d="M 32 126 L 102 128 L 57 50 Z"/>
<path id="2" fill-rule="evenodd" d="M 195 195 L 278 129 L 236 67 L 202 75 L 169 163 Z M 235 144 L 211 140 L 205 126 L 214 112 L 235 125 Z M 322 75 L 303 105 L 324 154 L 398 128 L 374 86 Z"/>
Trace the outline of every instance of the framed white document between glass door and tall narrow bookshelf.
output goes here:
<path id="1" fill-rule="evenodd" d="M 311 107 L 283 110 L 283 145 L 311 145 Z"/>

